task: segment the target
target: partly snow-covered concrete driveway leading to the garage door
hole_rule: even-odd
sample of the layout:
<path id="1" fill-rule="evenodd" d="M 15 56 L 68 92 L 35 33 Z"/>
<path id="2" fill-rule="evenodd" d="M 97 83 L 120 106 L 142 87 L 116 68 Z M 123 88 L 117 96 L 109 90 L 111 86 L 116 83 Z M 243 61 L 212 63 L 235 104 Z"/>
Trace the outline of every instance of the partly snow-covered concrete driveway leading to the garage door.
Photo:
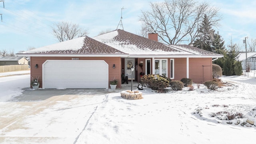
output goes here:
<path id="1" fill-rule="evenodd" d="M 112 92 L 105 89 L 25 89 L 0 102 L 1 144 L 75 144 L 96 107 Z"/>

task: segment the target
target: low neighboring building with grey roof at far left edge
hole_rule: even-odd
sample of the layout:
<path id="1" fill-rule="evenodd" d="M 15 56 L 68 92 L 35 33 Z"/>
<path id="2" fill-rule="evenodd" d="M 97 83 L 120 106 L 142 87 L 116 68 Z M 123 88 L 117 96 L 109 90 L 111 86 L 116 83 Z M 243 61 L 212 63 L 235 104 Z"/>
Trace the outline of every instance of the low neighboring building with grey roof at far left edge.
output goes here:
<path id="1" fill-rule="evenodd" d="M 20 56 L 0 56 L 0 66 L 28 64 L 28 59 Z"/>

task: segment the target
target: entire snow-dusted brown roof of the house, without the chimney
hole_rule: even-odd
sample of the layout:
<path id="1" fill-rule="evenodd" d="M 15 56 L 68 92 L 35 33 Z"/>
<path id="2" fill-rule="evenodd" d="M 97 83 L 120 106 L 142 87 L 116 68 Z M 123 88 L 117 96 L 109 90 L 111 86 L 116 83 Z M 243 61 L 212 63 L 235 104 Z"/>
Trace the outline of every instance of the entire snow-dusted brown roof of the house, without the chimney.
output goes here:
<path id="1" fill-rule="evenodd" d="M 124 30 L 114 30 L 89 38 L 88 36 L 29 50 L 20 56 L 123 56 L 123 57 L 222 57 L 220 54 L 201 50 L 193 46 L 167 45 Z"/>

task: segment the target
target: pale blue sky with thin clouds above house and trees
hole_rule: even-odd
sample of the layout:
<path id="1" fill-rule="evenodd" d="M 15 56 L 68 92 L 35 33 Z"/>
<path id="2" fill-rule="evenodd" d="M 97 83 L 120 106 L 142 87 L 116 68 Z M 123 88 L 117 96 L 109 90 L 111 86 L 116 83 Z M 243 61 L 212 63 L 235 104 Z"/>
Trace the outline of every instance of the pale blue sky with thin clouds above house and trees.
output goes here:
<path id="1" fill-rule="evenodd" d="M 0 2 L 0 50 L 17 53 L 57 43 L 52 35 L 54 23 L 68 21 L 88 29 L 88 36 L 102 30 L 115 30 L 123 10 L 124 30 L 138 34 L 141 10 L 148 10 L 149 2 L 163 0 L 5 0 Z M 256 1 L 206 0 L 220 8 L 222 20 L 216 29 L 225 44 L 232 41 L 244 48 L 242 40 L 256 39 Z"/>

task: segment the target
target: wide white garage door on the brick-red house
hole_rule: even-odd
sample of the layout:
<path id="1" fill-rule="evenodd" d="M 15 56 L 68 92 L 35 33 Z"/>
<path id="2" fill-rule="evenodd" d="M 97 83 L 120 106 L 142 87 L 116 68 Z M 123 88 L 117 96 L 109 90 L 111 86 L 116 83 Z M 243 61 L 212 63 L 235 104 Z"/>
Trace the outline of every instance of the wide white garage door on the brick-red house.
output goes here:
<path id="1" fill-rule="evenodd" d="M 104 60 L 47 60 L 42 78 L 43 88 L 108 88 L 108 64 Z"/>

